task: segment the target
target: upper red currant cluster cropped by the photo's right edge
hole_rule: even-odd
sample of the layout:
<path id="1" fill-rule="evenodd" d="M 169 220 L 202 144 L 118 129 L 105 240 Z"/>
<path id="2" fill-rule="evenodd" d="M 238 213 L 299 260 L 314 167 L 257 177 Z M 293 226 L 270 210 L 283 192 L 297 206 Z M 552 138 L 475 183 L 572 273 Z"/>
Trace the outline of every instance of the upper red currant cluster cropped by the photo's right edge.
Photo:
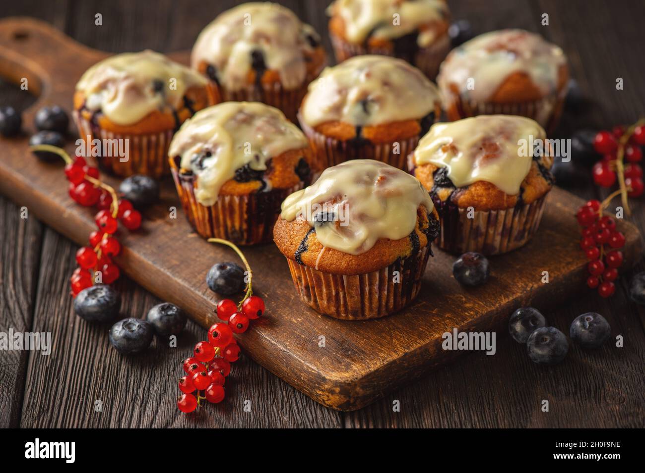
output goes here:
<path id="1" fill-rule="evenodd" d="M 600 131 L 593 140 L 595 151 L 602 160 L 593 165 L 593 181 L 601 187 L 611 187 L 616 180 L 630 197 L 639 197 L 645 191 L 643 170 L 639 162 L 645 145 L 645 124 L 642 120 L 627 129 L 614 127 L 612 131 Z M 627 164 L 624 164 L 627 161 Z"/>

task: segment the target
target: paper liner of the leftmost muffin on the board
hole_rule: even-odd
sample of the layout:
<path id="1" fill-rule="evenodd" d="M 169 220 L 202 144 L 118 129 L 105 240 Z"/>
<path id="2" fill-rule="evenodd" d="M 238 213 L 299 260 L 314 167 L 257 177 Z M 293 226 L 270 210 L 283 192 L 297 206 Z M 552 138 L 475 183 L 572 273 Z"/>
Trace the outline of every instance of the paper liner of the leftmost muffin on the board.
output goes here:
<path id="1" fill-rule="evenodd" d="M 96 157 L 99 167 L 104 171 L 121 177 L 145 174 L 152 178 L 160 178 L 170 174 L 168 147 L 170 146 L 170 140 L 172 140 L 173 130 L 147 134 L 113 133 L 92 124 L 90 120 L 83 118 L 77 110 L 72 115 L 85 146 L 87 145 L 88 136 L 90 137 L 90 148 L 92 140 L 95 139 L 128 140 L 127 160 L 121 161 L 119 156 Z"/>

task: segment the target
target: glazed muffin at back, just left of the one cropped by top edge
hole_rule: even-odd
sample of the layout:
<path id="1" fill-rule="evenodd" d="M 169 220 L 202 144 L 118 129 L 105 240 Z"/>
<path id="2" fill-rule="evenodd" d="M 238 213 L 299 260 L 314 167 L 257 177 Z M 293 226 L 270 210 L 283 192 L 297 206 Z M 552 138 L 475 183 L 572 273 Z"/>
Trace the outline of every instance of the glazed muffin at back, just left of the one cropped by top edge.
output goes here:
<path id="1" fill-rule="evenodd" d="M 295 121 L 326 57 L 311 26 L 284 6 L 258 2 L 215 18 L 197 37 L 190 62 L 212 80 L 221 101 L 264 102 Z"/>

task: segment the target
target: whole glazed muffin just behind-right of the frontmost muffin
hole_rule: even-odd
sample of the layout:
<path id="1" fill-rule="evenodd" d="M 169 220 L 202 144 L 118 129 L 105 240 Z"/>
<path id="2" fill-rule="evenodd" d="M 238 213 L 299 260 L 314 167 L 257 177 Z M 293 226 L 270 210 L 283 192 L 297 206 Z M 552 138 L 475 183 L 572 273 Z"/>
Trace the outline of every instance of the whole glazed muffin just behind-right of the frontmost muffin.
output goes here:
<path id="1" fill-rule="evenodd" d="M 519 248 L 535 234 L 553 187 L 545 139 L 537 122 L 512 115 L 430 128 L 411 164 L 439 212 L 439 247 L 494 255 Z M 536 143 L 541 147 L 534 148 Z"/>

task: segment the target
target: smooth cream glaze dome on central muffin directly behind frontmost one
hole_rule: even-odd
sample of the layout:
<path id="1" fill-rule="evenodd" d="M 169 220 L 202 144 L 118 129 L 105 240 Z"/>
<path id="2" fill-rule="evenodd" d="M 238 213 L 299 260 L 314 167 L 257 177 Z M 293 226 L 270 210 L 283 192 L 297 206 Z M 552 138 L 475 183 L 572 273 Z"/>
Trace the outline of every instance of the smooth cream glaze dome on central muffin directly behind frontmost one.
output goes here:
<path id="1" fill-rule="evenodd" d="M 310 126 L 335 120 L 378 125 L 420 120 L 439 102 L 436 86 L 404 60 L 361 55 L 326 68 L 309 85 L 301 113 Z"/>

